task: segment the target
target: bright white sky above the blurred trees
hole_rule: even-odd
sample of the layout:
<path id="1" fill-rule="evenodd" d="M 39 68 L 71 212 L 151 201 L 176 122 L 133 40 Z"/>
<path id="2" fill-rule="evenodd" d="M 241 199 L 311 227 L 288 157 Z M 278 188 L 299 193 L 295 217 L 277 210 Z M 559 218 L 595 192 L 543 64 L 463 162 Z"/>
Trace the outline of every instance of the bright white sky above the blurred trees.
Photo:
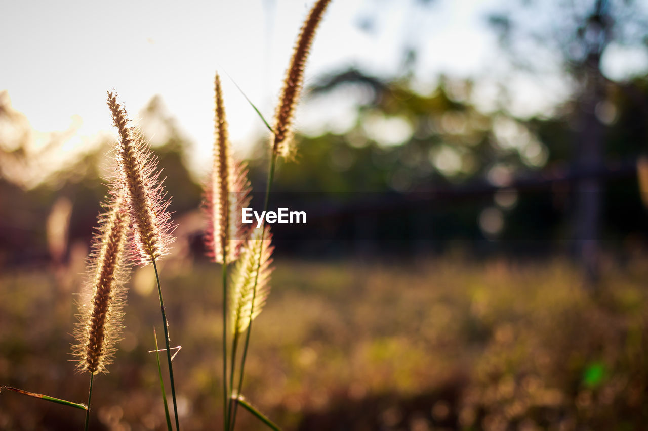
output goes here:
<path id="1" fill-rule="evenodd" d="M 38 131 L 67 129 L 80 118 L 79 133 L 65 148 L 71 152 L 82 151 L 98 133 L 114 133 L 106 90 L 117 89 L 132 118 L 159 94 L 196 144 L 192 160 L 206 168 L 214 71 L 229 73 L 270 120 L 295 37 L 312 3 L 7 1 L 0 14 L 0 90 L 8 90 L 14 108 Z M 451 76 L 492 71 L 496 40 L 484 17 L 501 4 L 435 0 L 430 13 L 423 14 L 414 0 L 334 0 L 319 28 L 306 80 L 350 65 L 397 75 L 406 43 L 420 48 L 417 76 L 423 86 L 442 71 Z M 358 25 L 364 17 L 375 19 L 375 32 Z M 527 100 L 535 100 L 531 105 L 542 104 L 533 86 L 520 83 L 520 88 L 529 92 Z M 224 93 L 231 138 L 243 151 L 262 124 L 226 77 Z M 325 111 L 318 113 L 331 115 Z"/>

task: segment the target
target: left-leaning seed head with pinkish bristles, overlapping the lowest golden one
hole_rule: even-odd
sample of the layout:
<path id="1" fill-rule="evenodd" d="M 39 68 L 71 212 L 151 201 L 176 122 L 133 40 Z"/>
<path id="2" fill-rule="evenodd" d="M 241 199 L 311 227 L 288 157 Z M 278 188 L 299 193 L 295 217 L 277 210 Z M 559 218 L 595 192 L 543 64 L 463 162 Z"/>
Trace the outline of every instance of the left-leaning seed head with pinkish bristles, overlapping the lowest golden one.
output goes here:
<path id="1" fill-rule="evenodd" d="M 108 92 L 108 107 L 113 124 L 119 131 L 116 155 L 119 182 L 125 190 L 126 203 L 133 226 L 133 256 L 137 263 L 148 265 L 168 253 L 173 241 L 170 201 L 165 199 L 159 179 L 157 159 L 145 144 L 141 133 L 128 126 L 126 110 L 117 102 L 117 94 Z"/>

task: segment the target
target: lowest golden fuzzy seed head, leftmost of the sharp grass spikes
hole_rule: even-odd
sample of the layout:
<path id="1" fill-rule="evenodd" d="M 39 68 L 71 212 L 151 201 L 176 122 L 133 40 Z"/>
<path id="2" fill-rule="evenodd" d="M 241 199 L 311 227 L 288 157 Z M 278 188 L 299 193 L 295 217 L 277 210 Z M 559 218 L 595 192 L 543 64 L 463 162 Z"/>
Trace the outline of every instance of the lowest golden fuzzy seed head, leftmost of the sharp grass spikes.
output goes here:
<path id="1" fill-rule="evenodd" d="M 128 240 L 128 212 L 123 193 L 106 204 L 98 217 L 98 229 L 88 258 L 84 300 L 80 302 L 73 353 L 78 370 L 107 372 L 119 340 L 124 304 L 124 284 L 130 268 L 125 257 Z"/>

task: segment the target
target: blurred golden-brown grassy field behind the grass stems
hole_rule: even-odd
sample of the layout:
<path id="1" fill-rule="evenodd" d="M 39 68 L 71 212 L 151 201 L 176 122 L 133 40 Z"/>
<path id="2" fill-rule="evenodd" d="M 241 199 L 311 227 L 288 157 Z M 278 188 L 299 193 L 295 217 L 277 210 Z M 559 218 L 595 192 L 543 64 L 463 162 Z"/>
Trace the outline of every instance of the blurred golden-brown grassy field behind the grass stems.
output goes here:
<path id="1" fill-rule="evenodd" d="M 183 429 L 216 429 L 220 268 L 161 268 Z M 644 259 L 596 296 L 560 261 L 275 262 L 244 393 L 286 430 L 641 430 L 648 421 Z M 0 276 L 0 381 L 85 402 L 68 362 L 80 268 Z M 150 268 L 135 272 L 124 339 L 95 379 L 95 430 L 163 426 Z M 159 337 L 159 336 L 158 336 Z M 161 338 L 159 338 L 161 342 Z M 240 429 L 259 423 L 240 412 Z M 3 430 L 82 428 L 83 412 L 0 395 Z"/>

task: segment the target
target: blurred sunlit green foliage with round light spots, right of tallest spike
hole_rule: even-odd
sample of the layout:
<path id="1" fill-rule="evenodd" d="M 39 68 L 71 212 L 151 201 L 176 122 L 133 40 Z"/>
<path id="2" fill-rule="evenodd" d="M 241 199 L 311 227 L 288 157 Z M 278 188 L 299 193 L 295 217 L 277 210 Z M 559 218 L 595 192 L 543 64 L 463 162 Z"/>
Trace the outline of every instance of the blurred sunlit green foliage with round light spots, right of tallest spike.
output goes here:
<path id="1" fill-rule="evenodd" d="M 434 91 L 421 94 L 408 78 L 387 81 L 349 69 L 309 89 L 310 98 L 334 93 L 357 96 L 351 126 L 299 137 L 298 163 L 281 168 L 280 189 L 411 192 L 477 178 L 506 186 L 548 157 L 529 126 L 503 111 L 480 111 L 467 80 L 442 77 Z"/>

